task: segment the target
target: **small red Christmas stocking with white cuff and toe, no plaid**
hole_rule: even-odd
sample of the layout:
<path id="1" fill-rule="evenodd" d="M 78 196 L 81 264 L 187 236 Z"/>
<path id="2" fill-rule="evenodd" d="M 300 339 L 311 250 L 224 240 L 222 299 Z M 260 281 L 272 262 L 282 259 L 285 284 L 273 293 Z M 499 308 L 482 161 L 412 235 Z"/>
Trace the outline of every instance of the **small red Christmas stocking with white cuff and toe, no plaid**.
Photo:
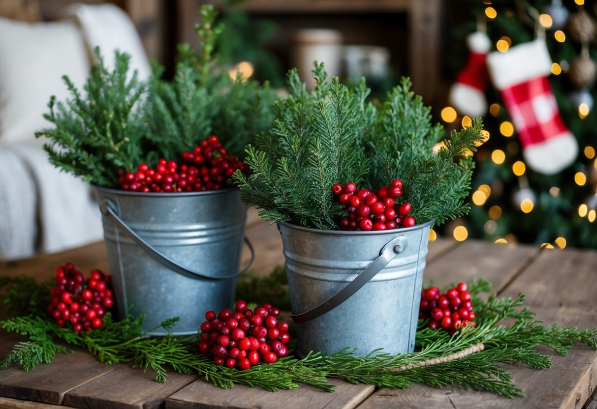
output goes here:
<path id="1" fill-rule="evenodd" d="M 466 44 L 470 51 L 469 60 L 458 73 L 448 98 L 459 113 L 483 116 L 487 111 L 485 86 L 489 82 L 485 58 L 491 48 L 491 41 L 487 34 L 476 32 L 466 38 Z"/>

